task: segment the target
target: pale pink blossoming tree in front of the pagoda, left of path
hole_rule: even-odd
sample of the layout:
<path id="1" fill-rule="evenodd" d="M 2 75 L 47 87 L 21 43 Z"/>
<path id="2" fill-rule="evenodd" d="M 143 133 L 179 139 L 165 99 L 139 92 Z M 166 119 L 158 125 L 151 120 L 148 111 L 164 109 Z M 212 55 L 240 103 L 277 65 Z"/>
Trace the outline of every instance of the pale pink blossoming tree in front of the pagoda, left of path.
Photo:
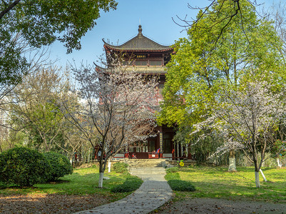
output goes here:
<path id="1" fill-rule="evenodd" d="M 108 68 L 81 66 L 73 71 L 83 106 L 67 117 L 98 148 L 102 188 L 108 159 L 130 143 L 143 141 L 155 127 L 156 78 L 111 60 Z"/>

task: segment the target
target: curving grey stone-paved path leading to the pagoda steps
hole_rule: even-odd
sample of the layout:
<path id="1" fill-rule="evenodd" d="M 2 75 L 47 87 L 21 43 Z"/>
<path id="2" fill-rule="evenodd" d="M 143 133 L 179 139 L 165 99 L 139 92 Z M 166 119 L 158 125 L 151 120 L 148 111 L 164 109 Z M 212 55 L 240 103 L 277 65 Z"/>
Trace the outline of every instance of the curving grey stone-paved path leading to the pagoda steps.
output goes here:
<path id="1" fill-rule="evenodd" d="M 114 203 L 108 203 L 78 213 L 149 213 L 163 205 L 172 197 L 172 190 L 165 180 L 163 173 L 152 173 L 149 175 L 133 173 L 133 175 L 137 175 L 144 181 L 141 187 L 134 193 Z"/>

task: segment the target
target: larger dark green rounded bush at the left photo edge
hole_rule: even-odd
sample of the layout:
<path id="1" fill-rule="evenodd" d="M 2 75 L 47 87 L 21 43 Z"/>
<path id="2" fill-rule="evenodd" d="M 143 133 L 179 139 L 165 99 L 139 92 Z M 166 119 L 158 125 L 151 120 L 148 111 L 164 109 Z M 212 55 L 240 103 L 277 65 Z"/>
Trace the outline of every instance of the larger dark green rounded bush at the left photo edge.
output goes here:
<path id="1" fill-rule="evenodd" d="M 43 154 L 29 148 L 12 148 L 0 154 L 0 182 L 31 186 L 48 180 L 51 169 Z"/>

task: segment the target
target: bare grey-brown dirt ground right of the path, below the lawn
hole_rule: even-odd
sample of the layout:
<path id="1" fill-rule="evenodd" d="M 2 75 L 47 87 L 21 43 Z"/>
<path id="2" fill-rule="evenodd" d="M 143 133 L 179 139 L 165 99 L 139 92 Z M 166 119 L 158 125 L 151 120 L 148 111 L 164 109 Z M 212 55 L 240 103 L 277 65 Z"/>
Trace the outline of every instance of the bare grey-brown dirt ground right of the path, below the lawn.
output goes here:
<path id="1" fill-rule="evenodd" d="M 190 198 L 175 203 L 170 202 L 153 213 L 286 213 L 286 204 Z"/>

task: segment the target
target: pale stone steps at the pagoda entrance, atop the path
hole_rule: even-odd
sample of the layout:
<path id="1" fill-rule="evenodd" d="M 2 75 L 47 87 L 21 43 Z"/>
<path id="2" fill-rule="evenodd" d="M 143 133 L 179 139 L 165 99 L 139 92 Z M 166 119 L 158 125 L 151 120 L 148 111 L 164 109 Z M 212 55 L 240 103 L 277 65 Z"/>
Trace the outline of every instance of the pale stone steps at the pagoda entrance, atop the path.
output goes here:
<path id="1" fill-rule="evenodd" d="M 165 173 L 165 160 L 160 159 L 129 159 L 125 163 L 129 165 L 131 174 L 138 173 Z"/>

